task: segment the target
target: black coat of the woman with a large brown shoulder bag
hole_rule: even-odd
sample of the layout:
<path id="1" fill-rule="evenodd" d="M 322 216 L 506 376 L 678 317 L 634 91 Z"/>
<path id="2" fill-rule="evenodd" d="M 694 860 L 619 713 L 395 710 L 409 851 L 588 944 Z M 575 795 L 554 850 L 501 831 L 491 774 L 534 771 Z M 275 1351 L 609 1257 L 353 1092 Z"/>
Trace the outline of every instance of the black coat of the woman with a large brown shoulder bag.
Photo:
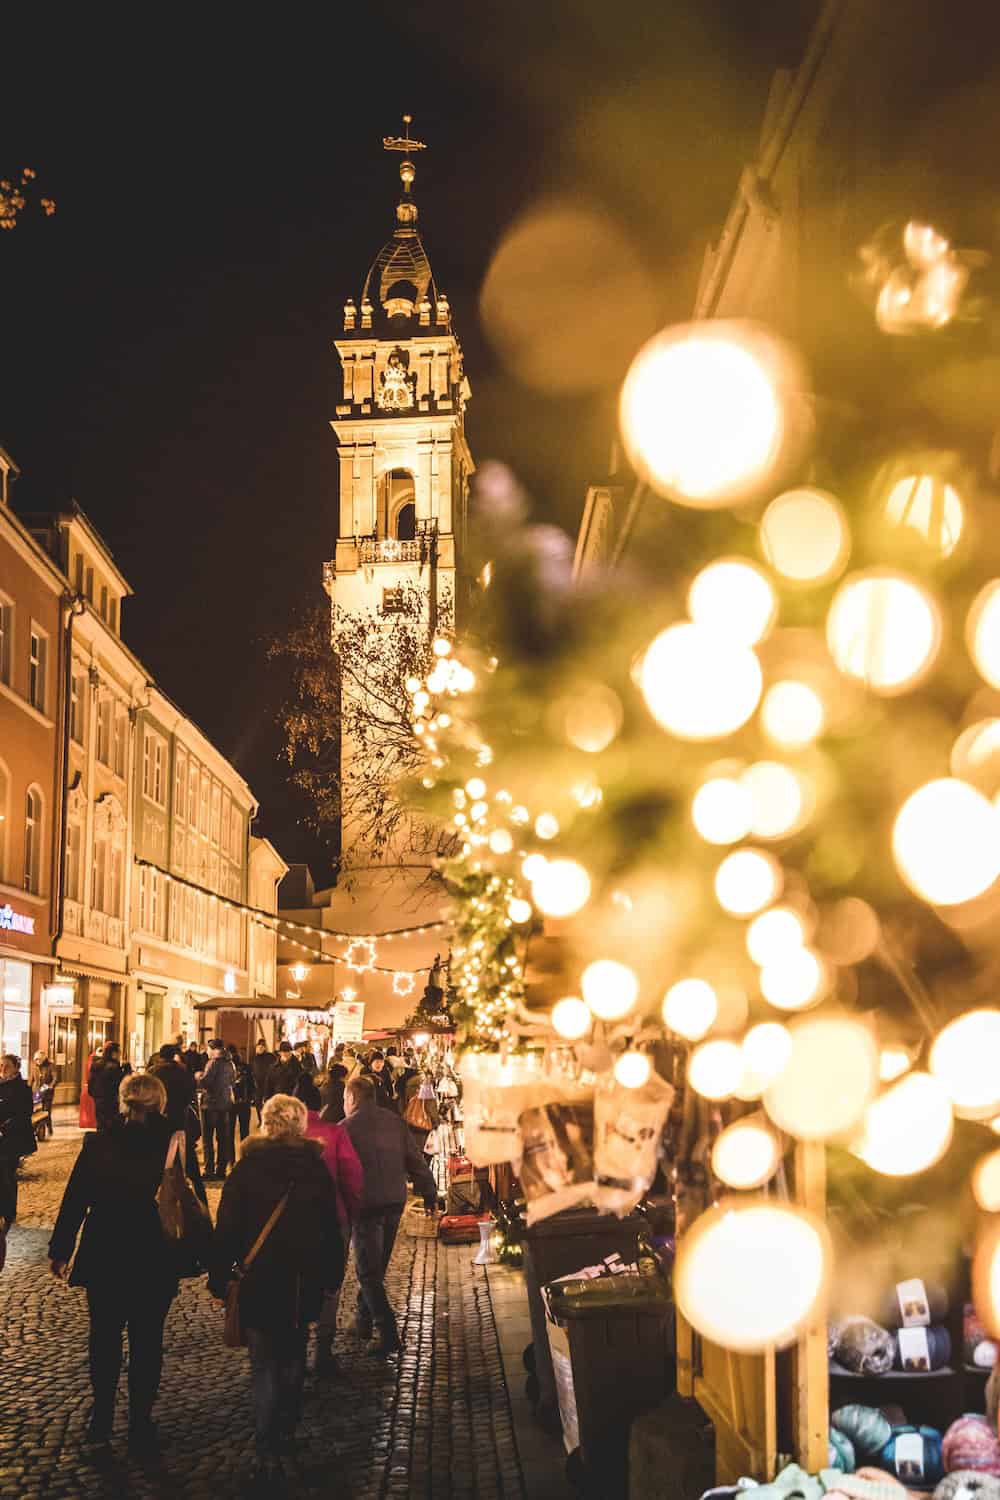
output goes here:
<path id="1" fill-rule="evenodd" d="M 142 1124 L 118 1116 L 84 1137 L 48 1246 L 52 1260 L 70 1260 L 82 1224 L 70 1286 L 174 1296 L 177 1275 L 156 1208 L 171 1136 L 163 1116 L 153 1114 Z"/>

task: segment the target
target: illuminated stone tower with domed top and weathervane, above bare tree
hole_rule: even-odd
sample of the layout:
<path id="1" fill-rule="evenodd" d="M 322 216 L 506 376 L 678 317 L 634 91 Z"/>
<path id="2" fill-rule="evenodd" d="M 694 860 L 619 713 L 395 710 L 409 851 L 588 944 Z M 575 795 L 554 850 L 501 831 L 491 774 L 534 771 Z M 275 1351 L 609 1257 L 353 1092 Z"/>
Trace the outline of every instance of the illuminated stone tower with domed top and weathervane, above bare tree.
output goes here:
<path id="1" fill-rule="evenodd" d="M 412 590 L 423 596 L 429 633 L 450 632 L 462 588 L 474 466 L 465 440 L 469 384 L 448 298 L 420 237 L 412 156 L 424 147 L 411 140 L 409 124 L 403 116 L 405 134 L 382 142 L 402 153 L 396 226 L 360 298 L 345 303 L 343 330 L 334 339 L 343 376 L 331 420 L 340 459 L 339 525 L 336 558 L 324 568 L 334 646 L 340 612 L 373 615 L 390 632 Z M 343 692 L 349 690 L 345 682 Z M 351 762 L 345 734 L 345 782 Z M 405 855 L 387 849 L 379 862 L 406 862 Z M 367 862 L 348 813 L 342 864 L 357 870 Z"/>

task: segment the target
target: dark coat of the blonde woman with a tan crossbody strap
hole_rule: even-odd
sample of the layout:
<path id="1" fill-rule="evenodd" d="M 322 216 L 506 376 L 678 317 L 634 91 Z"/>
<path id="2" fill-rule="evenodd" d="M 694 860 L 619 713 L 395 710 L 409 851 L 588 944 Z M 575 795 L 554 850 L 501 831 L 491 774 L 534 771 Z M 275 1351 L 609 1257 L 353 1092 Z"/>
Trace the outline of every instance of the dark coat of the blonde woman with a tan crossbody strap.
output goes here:
<path id="1" fill-rule="evenodd" d="M 234 1264 L 250 1251 L 289 1186 L 288 1203 L 240 1286 L 240 1317 L 247 1328 L 315 1323 L 322 1293 L 343 1281 L 337 1194 L 319 1143 L 252 1136 L 222 1190 L 208 1288 L 225 1296 Z"/>

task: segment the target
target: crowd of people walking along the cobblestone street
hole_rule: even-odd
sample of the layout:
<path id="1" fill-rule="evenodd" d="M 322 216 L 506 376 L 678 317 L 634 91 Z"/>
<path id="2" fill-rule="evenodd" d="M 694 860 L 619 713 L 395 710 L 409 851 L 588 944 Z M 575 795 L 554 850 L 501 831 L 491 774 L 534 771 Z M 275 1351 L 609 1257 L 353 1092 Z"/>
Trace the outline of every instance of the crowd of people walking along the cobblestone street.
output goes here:
<path id="1" fill-rule="evenodd" d="M 39 1056 L 36 1068 L 43 1060 Z M 411 1052 L 393 1047 L 364 1054 L 340 1046 L 324 1068 L 307 1042 L 289 1041 L 276 1050 L 258 1041 L 246 1059 L 222 1041 L 202 1052 L 177 1038 L 144 1071 L 132 1071 L 115 1042 L 91 1059 L 87 1092 L 96 1128 L 84 1137 L 66 1185 L 49 1263 L 57 1278 L 87 1296 L 87 1442 L 94 1460 L 111 1452 L 126 1329 L 129 1449 L 139 1456 L 157 1452 L 153 1402 L 163 1326 L 178 1278 L 190 1269 L 180 1268 L 162 1224 L 165 1172 L 180 1173 L 202 1204 L 205 1182 L 222 1184 L 198 1270 L 220 1310 L 234 1298 L 238 1305 L 250 1360 L 253 1482 L 261 1492 L 280 1492 L 310 1326 L 316 1378 L 340 1374 L 334 1332 L 348 1251 L 358 1280 L 355 1334 L 373 1354 L 400 1348 L 385 1270 L 408 1180 L 426 1212 L 439 1208 L 423 1149 L 438 1125 L 438 1082 Z M 21 1077 L 19 1059 L 3 1058 L 0 1238 L 16 1216 L 18 1161 L 36 1149 L 33 1112 L 37 1116 L 37 1088 Z M 51 1120 L 51 1096 L 48 1113 Z"/>

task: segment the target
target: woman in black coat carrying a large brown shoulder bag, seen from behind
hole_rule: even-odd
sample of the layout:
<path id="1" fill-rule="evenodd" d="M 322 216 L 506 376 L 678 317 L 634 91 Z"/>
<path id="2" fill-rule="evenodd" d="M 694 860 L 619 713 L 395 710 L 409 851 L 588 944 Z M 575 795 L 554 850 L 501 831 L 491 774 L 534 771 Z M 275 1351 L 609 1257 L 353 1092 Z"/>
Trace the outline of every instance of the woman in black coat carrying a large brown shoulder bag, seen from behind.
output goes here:
<path id="1" fill-rule="evenodd" d="M 160 1227 L 156 1194 L 171 1128 L 166 1090 L 153 1074 L 123 1080 L 121 1113 L 84 1138 L 48 1254 L 52 1275 L 66 1280 L 76 1236 L 79 1250 L 69 1284 L 84 1287 L 90 1312 L 88 1440 L 106 1450 L 121 1371 L 121 1330 L 129 1330 L 129 1448 L 156 1449 L 153 1402 L 163 1362 L 163 1322 L 177 1294 L 177 1275 Z"/>

